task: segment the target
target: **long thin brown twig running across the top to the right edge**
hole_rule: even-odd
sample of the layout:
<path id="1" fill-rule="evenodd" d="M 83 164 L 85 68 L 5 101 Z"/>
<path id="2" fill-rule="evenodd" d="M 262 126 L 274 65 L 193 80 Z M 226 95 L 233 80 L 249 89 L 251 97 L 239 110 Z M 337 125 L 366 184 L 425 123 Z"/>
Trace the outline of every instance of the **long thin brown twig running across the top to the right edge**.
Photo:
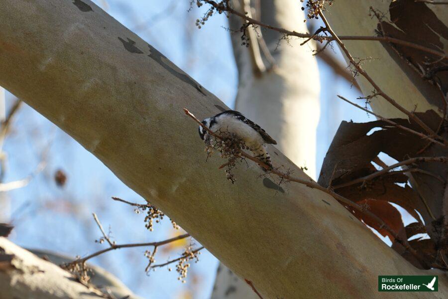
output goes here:
<path id="1" fill-rule="evenodd" d="M 238 11 L 232 9 L 231 7 L 224 6 L 224 4 L 222 4 L 221 2 L 217 3 L 217 2 L 212 1 L 212 0 L 203 0 L 203 1 L 208 3 L 208 4 L 210 4 L 210 5 L 212 5 L 212 6 L 214 6 L 217 9 L 222 9 L 223 11 L 227 11 L 227 12 L 230 12 L 232 14 L 235 14 L 235 15 L 243 18 L 244 20 L 248 21 L 249 23 L 256 24 L 256 25 L 259 25 L 261 27 L 277 31 L 277 32 L 283 33 L 283 34 L 288 35 L 288 36 L 296 36 L 296 37 L 300 37 L 300 38 L 309 38 L 309 37 L 313 36 L 313 34 L 310 34 L 310 33 L 299 33 L 299 32 L 296 32 L 296 31 L 286 30 L 286 29 L 281 28 L 281 27 L 275 27 L 275 26 L 271 26 L 269 24 L 265 24 L 265 23 L 263 23 L 261 21 L 258 21 L 256 19 L 250 18 L 247 15 L 244 15 L 244 14 L 238 12 Z M 318 41 L 322 41 L 322 40 L 333 41 L 333 40 L 336 40 L 336 38 L 333 37 L 333 36 L 325 36 L 325 35 L 315 35 L 314 39 L 318 40 Z M 444 53 L 444 52 L 440 52 L 440 51 L 437 51 L 437 50 L 434 50 L 434 49 L 431 49 L 431 48 L 428 48 L 428 47 L 425 47 L 425 46 L 422 46 L 422 45 L 419 45 L 419 44 L 415 44 L 415 43 L 412 43 L 412 42 L 409 42 L 409 41 L 406 41 L 406 40 L 399 39 L 399 38 L 393 38 L 393 37 L 388 37 L 388 36 L 355 36 L 355 35 L 343 35 L 342 36 L 341 35 L 341 36 L 339 36 L 339 39 L 340 40 L 370 40 L 370 41 L 392 42 L 392 43 L 400 44 L 400 45 L 403 45 L 403 46 L 415 48 L 415 49 L 418 49 L 418 50 L 421 50 L 421 51 L 424 51 L 424 52 L 427 52 L 427 53 L 431 53 L 431 54 L 440 56 L 443 59 L 448 59 L 448 55 L 446 53 Z"/>

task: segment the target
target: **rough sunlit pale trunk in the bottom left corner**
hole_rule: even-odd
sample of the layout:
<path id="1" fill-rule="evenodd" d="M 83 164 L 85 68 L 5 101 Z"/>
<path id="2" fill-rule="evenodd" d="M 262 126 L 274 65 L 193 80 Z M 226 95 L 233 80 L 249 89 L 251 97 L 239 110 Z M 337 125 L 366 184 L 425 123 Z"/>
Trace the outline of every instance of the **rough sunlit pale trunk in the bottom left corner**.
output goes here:
<path id="1" fill-rule="evenodd" d="M 58 255 L 42 252 L 40 254 L 52 262 L 68 262 Z M 40 259 L 0 237 L 0 299 L 98 299 L 104 298 L 108 292 L 114 298 L 140 298 L 103 269 L 92 267 L 92 271 L 95 274 L 92 280 L 94 285 L 89 287 L 78 282 L 74 275 L 57 265 Z"/>

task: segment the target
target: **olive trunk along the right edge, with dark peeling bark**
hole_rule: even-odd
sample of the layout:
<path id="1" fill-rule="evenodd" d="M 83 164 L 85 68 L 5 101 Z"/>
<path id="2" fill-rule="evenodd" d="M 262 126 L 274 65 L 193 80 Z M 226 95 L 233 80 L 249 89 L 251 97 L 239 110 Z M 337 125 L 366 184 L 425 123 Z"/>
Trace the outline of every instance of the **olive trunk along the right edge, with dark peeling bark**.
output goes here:
<path id="1" fill-rule="evenodd" d="M 437 1 L 436 1 L 437 2 Z M 379 18 L 375 16 L 379 15 Z M 337 1 L 325 13 L 338 35 L 385 35 L 448 53 L 447 5 L 414 0 Z M 378 86 L 408 111 L 436 111 L 447 123 L 448 68 L 446 60 L 419 50 L 392 43 L 344 41 L 353 57 L 373 58 L 362 67 Z M 362 76 L 357 81 L 364 95 L 373 93 Z M 381 97 L 370 100 L 372 110 L 383 117 L 404 117 Z M 440 123 L 439 120 L 437 122 Z M 439 134 L 448 138 L 446 125 Z M 398 145 L 400 146 L 400 145 Z M 429 147 L 426 155 L 447 156 L 446 148 Z M 446 247 L 448 230 L 448 171 L 444 163 L 431 170 L 447 182 L 436 187 L 434 179 L 410 173 L 410 182 L 419 196 L 428 201 L 433 221 L 428 234 L 436 244 Z M 423 200 L 422 199 L 422 200 Z M 438 228 L 439 227 L 439 228 Z M 437 247 L 437 246 L 436 246 Z"/>

